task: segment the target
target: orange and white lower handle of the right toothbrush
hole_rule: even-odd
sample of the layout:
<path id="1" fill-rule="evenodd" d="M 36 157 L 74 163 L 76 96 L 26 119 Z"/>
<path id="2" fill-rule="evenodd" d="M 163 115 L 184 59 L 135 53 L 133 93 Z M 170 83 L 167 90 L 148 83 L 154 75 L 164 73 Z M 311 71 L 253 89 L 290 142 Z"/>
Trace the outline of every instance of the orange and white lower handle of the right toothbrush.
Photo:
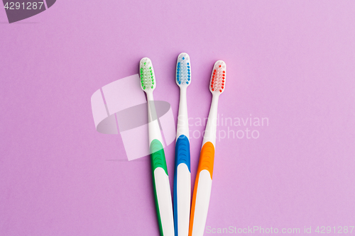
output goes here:
<path id="1" fill-rule="evenodd" d="M 212 189 L 214 145 L 206 142 L 202 146 L 192 197 L 189 236 L 202 236 L 207 220 L 209 198 Z"/>

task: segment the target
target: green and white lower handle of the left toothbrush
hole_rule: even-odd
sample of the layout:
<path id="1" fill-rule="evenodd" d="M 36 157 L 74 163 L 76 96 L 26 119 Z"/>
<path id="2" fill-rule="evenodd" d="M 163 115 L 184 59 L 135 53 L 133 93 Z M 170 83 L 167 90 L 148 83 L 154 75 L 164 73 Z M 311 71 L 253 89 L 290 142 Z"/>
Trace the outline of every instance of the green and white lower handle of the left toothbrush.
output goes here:
<path id="1" fill-rule="evenodd" d="M 173 203 L 163 145 L 151 142 L 151 167 L 155 209 L 161 236 L 174 236 Z"/>

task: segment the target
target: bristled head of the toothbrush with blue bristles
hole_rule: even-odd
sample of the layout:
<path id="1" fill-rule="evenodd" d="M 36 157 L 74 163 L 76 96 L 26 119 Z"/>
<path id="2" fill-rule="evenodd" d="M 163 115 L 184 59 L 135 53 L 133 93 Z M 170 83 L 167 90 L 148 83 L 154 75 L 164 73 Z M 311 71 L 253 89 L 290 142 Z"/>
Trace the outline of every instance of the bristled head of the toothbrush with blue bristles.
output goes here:
<path id="1" fill-rule="evenodd" d="M 187 87 L 191 83 L 191 62 L 190 56 L 182 52 L 178 56 L 178 62 L 176 62 L 176 74 L 175 74 L 175 81 L 178 86 Z"/>

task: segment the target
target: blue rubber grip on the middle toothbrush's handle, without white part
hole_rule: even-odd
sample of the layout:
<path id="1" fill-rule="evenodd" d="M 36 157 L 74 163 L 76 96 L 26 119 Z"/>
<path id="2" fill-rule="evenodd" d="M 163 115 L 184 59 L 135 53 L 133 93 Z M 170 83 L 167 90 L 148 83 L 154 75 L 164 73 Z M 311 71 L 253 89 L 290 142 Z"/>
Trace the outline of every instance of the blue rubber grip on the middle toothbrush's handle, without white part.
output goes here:
<path id="1" fill-rule="evenodd" d="M 185 135 L 180 135 L 175 145 L 175 172 L 174 172 L 174 228 L 175 236 L 178 236 L 178 166 L 186 164 L 190 170 L 190 140 Z"/>

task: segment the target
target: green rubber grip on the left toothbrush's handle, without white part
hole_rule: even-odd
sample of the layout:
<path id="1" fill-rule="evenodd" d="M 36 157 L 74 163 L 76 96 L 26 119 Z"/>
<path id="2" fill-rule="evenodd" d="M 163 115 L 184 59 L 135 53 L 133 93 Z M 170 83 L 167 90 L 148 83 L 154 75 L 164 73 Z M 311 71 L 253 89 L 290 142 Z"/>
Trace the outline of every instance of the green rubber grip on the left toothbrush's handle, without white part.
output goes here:
<path id="1" fill-rule="evenodd" d="M 159 203 L 158 203 L 158 198 L 157 198 L 157 194 L 156 194 L 154 170 L 158 167 L 161 167 L 164 169 L 166 175 L 168 175 L 168 168 L 166 167 L 165 153 L 164 153 L 163 145 L 161 144 L 161 142 L 159 140 L 153 140 L 151 142 L 150 149 L 151 149 L 151 167 L 152 167 L 152 176 L 153 176 L 153 192 L 154 192 L 155 210 L 156 210 L 156 215 L 158 218 L 160 235 L 163 236 L 164 234 L 163 234 L 163 227 L 161 225 Z"/>

